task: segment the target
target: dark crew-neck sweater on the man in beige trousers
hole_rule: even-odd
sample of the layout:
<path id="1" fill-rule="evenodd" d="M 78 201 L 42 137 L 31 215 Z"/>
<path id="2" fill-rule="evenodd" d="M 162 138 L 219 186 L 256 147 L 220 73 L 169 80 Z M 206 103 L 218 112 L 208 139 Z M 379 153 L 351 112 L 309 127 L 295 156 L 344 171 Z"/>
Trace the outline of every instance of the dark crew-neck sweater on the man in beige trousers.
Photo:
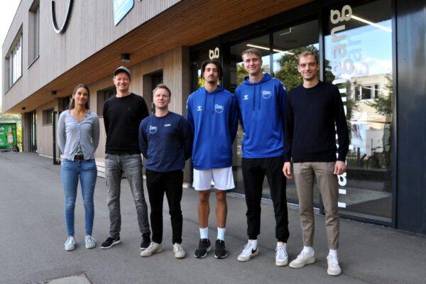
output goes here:
<path id="1" fill-rule="evenodd" d="M 315 87 L 301 84 L 287 97 L 285 111 L 285 161 L 295 163 L 345 161 L 349 133 L 339 89 L 318 82 Z M 336 146 L 336 129 L 339 150 Z"/>

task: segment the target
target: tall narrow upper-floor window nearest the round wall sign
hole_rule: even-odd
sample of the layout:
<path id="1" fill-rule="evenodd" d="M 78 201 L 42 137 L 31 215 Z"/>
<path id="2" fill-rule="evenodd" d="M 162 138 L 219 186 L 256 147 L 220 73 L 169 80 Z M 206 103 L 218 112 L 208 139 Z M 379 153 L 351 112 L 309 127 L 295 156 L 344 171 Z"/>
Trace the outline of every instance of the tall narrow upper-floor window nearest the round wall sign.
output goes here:
<path id="1" fill-rule="evenodd" d="M 28 63 L 31 65 L 39 55 L 40 0 L 34 0 L 28 13 Z"/>

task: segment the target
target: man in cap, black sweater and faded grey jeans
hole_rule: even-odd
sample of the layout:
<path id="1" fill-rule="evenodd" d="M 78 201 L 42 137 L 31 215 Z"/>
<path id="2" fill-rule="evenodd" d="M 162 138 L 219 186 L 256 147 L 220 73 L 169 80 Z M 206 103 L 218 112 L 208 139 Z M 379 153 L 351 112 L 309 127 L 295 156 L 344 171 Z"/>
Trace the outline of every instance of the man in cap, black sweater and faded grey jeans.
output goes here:
<path id="1" fill-rule="evenodd" d="M 143 196 L 142 159 L 139 149 L 138 130 L 142 119 L 148 116 L 143 97 L 129 91 L 131 72 L 124 66 L 114 71 L 116 96 L 104 102 L 104 126 L 107 133 L 105 146 L 105 179 L 107 181 L 109 209 L 109 237 L 101 249 L 109 249 L 120 243 L 121 176 L 126 174 L 131 187 L 141 231 L 141 250 L 151 243 L 148 207 Z"/>

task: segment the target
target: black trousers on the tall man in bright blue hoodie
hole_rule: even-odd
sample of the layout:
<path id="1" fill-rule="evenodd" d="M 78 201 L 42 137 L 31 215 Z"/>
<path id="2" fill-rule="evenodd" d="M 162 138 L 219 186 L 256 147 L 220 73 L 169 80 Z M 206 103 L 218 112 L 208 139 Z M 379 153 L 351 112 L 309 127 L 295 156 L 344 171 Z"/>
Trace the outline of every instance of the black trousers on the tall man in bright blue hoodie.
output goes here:
<path id="1" fill-rule="evenodd" d="M 243 158 L 241 161 L 247 204 L 247 235 L 257 239 L 261 234 L 261 199 L 263 180 L 268 179 L 275 212 L 275 238 L 287 242 L 288 209 L 283 173 L 284 156 L 273 158 Z"/>

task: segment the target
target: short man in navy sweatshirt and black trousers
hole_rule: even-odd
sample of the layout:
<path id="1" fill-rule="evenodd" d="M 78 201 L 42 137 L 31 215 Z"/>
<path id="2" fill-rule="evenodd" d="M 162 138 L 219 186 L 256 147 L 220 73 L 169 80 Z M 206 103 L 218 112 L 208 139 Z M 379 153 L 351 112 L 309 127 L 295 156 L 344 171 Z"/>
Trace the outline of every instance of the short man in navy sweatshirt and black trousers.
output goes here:
<path id="1" fill-rule="evenodd" d="M 151 204 L 152 241 L 141 256 L 163 251 L 163 197 L 167 197 L 175 258 L 185 258 L 182 249 L 182 182 L 185 160 L 190 158 L 192 136 L 187 120 L 168 110 L 170 89 L 159 84 L 153 91 L 155 114 L 143 119 L 139 126 L 139 147 L 148 161 L 146 187 Z"/>

